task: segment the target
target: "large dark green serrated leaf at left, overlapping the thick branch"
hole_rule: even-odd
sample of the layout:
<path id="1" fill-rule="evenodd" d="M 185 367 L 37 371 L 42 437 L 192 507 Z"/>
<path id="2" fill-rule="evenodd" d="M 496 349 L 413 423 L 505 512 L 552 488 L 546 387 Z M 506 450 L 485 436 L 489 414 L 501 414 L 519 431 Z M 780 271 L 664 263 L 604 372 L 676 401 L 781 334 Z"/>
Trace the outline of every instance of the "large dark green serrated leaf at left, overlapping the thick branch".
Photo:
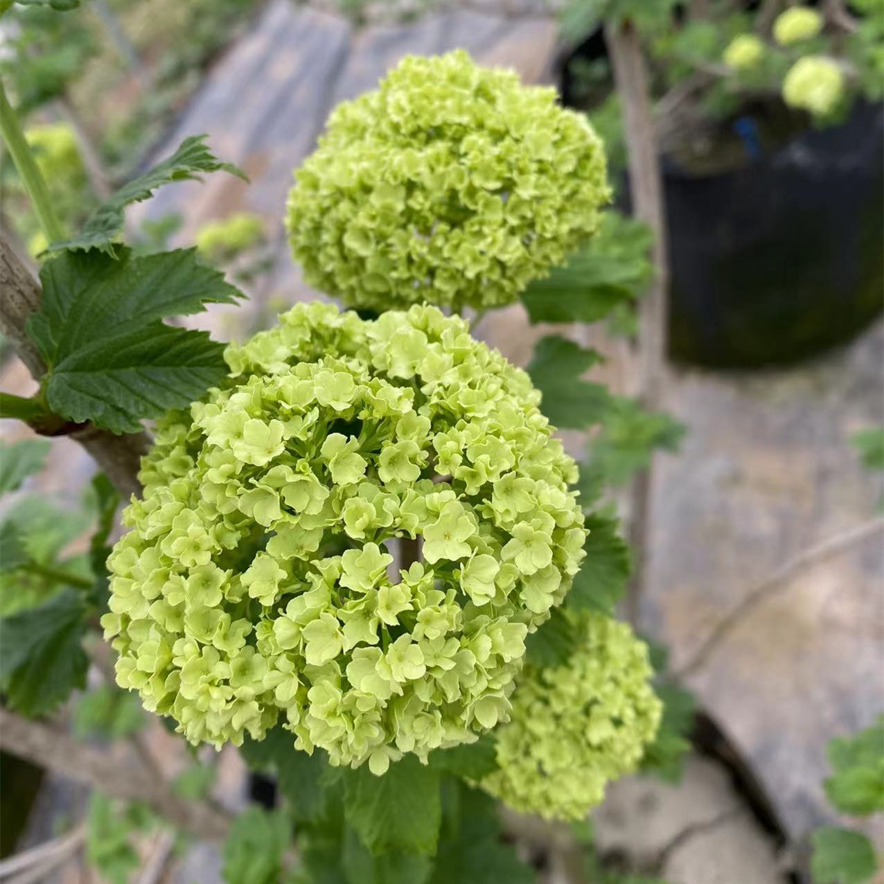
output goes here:
<path id="1" fill-rule="evenodd" d="M 164 316 L 230 303 L 239 291 L 195 249 L 118 260 L 65 252 L 44 264 L 41 309 L 28 334 L 49 365 L 50 408 L 68 420 L 135 432 L 141 419 L 198 399 L 226 373 L 223 346 Z"/>

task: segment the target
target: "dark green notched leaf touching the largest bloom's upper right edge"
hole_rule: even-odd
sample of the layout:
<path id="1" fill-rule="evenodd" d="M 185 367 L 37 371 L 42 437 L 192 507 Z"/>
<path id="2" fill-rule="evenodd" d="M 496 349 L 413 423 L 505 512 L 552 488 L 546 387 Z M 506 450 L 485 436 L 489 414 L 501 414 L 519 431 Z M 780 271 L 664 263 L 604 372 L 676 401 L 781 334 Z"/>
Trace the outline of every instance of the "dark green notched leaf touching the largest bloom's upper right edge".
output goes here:
<path id="1" fill-rule="evenodd" d="M 581 379 L 599 360 L 594 350 L 560 335 L 540 339 L 528 373 L 543 393 L 540 410 L 557 427 L 582 430 L 606 414 L 611 395 L 605 386 Z"/>

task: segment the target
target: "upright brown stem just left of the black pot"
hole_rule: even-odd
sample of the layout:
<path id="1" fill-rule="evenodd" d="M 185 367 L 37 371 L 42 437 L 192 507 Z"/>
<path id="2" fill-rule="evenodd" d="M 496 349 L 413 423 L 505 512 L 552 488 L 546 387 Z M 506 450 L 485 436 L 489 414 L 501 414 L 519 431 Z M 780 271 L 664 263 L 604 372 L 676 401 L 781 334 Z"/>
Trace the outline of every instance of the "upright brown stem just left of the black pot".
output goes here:
<path id="1" fill-rule="evenodd" d="M 623 106 L 623 125 L 629 159 L 629 191 L 633 215 L 654 234 L 654 280 L 638 314 L 638 389 L 645 408 L 659 406 L 666 373 L 667 291 L 669 268 L 663 182 L 654 133 L 651 89 L 644 50 L 631 22 L 609 22 L 605 27 L 614 86 Z M 627 593 L 627 613 L 636 622 L 647 569 L 652 467 L 636 476 L 632 490 L 629 541 L 635 555 L 635 573 Z"/>

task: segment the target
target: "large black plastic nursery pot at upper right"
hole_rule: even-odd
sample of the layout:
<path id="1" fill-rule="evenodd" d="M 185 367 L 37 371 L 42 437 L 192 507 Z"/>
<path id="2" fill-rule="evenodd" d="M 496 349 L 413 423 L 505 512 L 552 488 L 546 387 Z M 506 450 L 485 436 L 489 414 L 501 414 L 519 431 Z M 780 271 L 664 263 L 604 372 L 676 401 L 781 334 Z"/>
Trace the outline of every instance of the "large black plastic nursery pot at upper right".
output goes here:
<path id="1" fill-rule="evenodd" d="M 565 103 L 568 62 L 604 53 L 593 34 L 566 60 Z M 735 119 L 751 125 L 751 114 Z M 840 125 L 808 121 L 753 153 L 713 173 L 663 157 L 676 362 L 797 362 L 850 340 L 884 307 L 884 107 L 857 103 Z"/>

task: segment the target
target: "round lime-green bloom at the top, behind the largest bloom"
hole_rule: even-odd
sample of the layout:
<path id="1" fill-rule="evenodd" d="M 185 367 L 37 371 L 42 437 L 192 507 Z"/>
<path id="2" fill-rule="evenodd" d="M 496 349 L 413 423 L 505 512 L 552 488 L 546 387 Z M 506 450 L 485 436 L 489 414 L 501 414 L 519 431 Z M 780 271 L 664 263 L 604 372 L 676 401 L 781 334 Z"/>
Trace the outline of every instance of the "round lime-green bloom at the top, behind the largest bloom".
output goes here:
<path id="1" fill-rule="evenodd" d="M 287 225 L 305 278 L 377 310 L 514 301 L 609 198 L 584 115 L 462 50 L 407 57 L 339 104 L 296 179 Z"/>

